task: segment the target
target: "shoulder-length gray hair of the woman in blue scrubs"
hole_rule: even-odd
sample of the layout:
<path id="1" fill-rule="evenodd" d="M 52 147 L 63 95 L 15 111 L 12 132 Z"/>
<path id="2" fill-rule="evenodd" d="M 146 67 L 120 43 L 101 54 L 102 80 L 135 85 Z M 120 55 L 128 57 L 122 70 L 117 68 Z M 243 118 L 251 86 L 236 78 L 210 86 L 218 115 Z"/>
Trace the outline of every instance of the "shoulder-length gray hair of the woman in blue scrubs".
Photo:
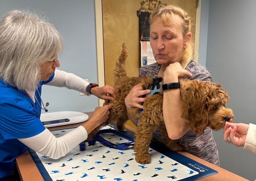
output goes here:
<path id="1" fill-rule="evenodd" d="M 63 41 L 54 26 L 31 11 L 12 10 L 0 20 L 0 79 L 35 90 L 40 65 L 58 57 Z"/>

